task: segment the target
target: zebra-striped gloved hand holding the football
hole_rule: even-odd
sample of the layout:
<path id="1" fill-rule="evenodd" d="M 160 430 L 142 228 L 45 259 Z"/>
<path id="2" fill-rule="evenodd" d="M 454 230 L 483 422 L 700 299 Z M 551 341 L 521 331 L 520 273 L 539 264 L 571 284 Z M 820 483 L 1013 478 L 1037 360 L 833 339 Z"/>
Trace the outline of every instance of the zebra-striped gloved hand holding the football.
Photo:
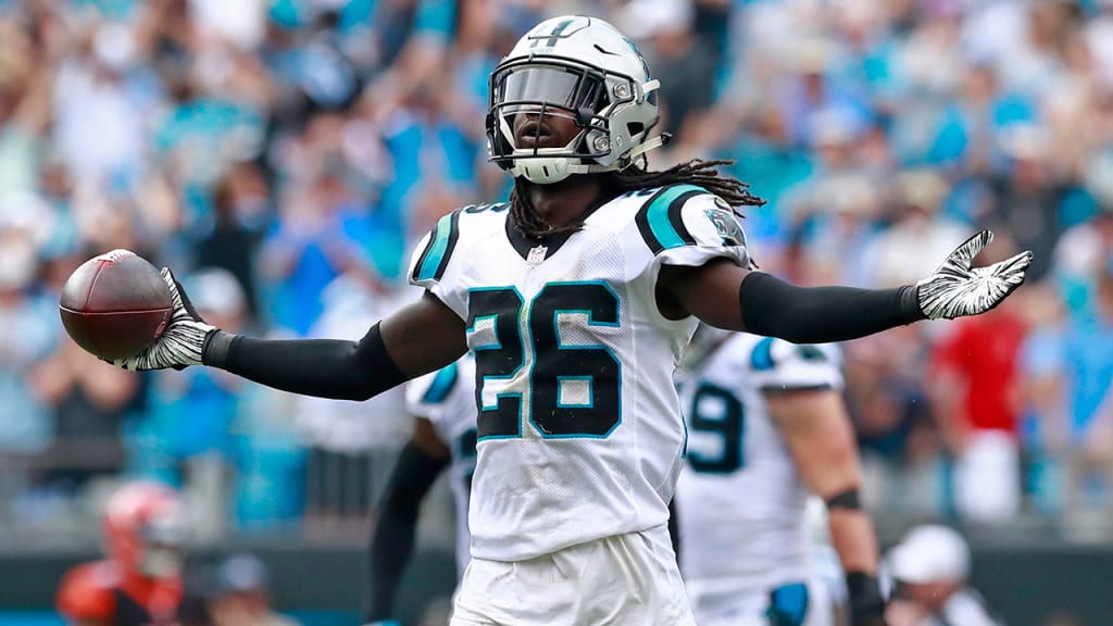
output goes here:
<path id="1" fill-rule="evenodd" d="M 162 267 L 162 280 L 170 287 L 174 299 L 174 313 L 170 323 L 155 343 L 146 350 L 127 359 L 112 361 L 114 365 L 125 370 L 164 370 L 174 368 L 183 370 L 187 365 L 200 365 L 205 353 L 205 342 L 217 329 L 206 324 L 194 311 L 189 296 L 174 278 L 168 267 Z"/>

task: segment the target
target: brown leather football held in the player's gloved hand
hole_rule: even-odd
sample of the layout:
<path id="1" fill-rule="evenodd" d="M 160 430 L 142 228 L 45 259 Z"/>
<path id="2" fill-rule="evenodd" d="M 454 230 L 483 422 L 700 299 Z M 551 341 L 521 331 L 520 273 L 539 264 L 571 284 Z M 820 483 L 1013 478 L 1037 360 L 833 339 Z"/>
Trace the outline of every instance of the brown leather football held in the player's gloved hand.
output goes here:
<path id="1" fill-rule="evenodd" d="M 174 300 L 154 265 L 126 250 L 82 263 L 62 286 L 62 325 L 101 359 L 124 359 L 150 345 L 170 322 Z"/>

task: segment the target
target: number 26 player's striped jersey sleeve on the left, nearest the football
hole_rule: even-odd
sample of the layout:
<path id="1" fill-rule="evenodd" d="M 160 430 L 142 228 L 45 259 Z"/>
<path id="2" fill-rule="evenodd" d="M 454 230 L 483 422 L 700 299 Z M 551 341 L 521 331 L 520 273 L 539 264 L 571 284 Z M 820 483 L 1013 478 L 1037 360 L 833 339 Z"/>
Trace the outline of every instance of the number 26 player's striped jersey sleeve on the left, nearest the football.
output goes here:
<path id="1" fill-rule="evenodd" d="M 460 319 L 466 320 L 466 292 L 453 288 L 453 285 L 460 284 L 461 254 L 456 246 L 460 241 L 460 215 L 461 211 L 454 211 L 441 217 L 436 226 L 422 237 L 410 258 L 407 276 L 410 284 L 424 287 Z"/>

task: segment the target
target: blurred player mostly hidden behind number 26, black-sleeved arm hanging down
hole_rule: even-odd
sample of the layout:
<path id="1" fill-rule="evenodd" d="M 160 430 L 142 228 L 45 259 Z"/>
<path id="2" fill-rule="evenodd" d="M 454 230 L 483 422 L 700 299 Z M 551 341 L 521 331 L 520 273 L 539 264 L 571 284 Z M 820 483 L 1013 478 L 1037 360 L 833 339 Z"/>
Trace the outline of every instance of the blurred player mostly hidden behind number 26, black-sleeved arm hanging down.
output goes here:
<path id="1" fill-rule="evenodd" d="M 467 500 L 475 472 L 475 361 L 470 355 L 406 383 L 406 410 L 414 434 L 402 449 L 383 497 L 371 539 L 367 612 L 364 622 L 397 624 L 395 595 L 414 547 L 417 513 L 433 481 L 449 468 L 456 503 L 456 568 L 471 558 Z"/>

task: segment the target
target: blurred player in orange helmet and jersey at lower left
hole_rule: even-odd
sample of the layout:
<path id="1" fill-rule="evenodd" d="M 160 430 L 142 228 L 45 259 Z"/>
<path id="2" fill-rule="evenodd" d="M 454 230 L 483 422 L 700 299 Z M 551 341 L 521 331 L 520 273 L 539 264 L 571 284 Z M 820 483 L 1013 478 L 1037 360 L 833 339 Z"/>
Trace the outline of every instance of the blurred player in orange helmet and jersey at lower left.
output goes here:
<path id="1" fill-rule="evenodd" d="M 78 565 L 58 588 L 57 607 L 71 626 L 170 626 L 205 622 L 190 614 L 183 580 L 185 524 L 178 495 L 131 482 L 108 499 L 102 516 L 108 558 Z"/>

